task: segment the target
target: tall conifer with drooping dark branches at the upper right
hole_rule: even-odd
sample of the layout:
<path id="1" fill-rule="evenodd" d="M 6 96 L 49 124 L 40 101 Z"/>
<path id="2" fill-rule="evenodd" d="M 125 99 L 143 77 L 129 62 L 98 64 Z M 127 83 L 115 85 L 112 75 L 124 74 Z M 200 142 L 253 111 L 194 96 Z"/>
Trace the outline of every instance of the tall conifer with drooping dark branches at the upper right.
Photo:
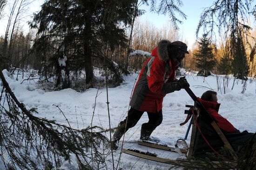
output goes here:
<path id="1" fill-rule="evenodd" d="M 251 29 L 248 25 L 249 15 L 255 14 L 254 0 L 216 0 L 213 5 L 205 8 L 197 26 L 196 35 L 201 28 L 207 30 L 211 38 L 218 32 L 224 31 L 226 38 L 230 38 L 229 50 L 232 57 L 232 73 L 239 79 L 245 79 L 248 74 L 248 63 L 244 41 Z M 256 43 L 255 43 L 256 44 Z"/>

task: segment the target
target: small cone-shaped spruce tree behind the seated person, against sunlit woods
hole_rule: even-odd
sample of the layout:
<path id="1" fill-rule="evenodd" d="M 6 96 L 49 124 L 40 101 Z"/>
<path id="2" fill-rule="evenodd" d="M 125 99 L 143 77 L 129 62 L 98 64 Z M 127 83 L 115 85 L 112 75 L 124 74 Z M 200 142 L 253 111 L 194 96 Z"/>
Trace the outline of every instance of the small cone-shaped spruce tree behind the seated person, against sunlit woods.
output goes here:
<path id="1" fill-rule="evenodd" d="M 212 50 L 210 39 L 207 34 L 203 34 L 198 41 L 198 50 L 194 54 L 197 60 L 196 67 L 200 69 L 198 76 L 209 76 L 210 71 L 215 66 L 216 62 Z"/>

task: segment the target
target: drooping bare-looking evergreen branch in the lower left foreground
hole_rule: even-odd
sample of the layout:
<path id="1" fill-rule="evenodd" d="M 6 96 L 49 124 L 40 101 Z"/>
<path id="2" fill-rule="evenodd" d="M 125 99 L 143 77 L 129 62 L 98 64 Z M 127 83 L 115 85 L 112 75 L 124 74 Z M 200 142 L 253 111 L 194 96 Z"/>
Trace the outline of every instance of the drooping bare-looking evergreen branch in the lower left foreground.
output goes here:
<path id="1" fill-rule="evenodd" d="M 98 149 L 108 147 L 108 139 L 102 128 L 92 126 L 78 130 L 72 128 L 68 120 L 69 126 L 66 126 L 55 120 L 36 117 L 36 108 L 27 110 L 17 100 L 1 70 L 0 78 L 3 84 L 0 94 L 0 158 L 7 169 L 60 169 L 63 161 L 70 161 L 71 157 L 75 157 L 79 170 L 92 170 L 92 162 L 104 166 Z"/>

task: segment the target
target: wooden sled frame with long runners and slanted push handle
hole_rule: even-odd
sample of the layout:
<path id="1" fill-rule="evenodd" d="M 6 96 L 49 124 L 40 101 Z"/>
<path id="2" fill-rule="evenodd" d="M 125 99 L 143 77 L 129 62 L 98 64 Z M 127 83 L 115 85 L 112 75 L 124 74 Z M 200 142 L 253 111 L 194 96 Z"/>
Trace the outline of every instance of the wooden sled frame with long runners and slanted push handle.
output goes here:
<path id="1" fill-rule="evenodd" d="M 236 166 L 237 156 L 236 156 L 236 153 L 235 153 L 234 149 L 230 145 L 229 141 L 224 136 L 223 132 L 221 131 L 219 126 L 216 124 L 215 120 L 211 117 L 211 115 L 207 112 L 207 110 L 202 105 L 202 103 L 197 99 L 195 94 L 191 91 L 191 89 L 189 87 L 187 87 L 187 88 L 185 88 L 185 90 L 187 91 L 189 96 L 195 101 L 195 106 L 186 105 L 186 107 L 189 107 L 190 109 L 185 111 L 185 114 L 188 114 L 188 116 L 187 116 L 187 119 L 182 123 L 182 125 L 184 125 L 192 117 L 191 121 L 190 121 L 190 125 L 192 124 L 192 132 L 191 132 L 191 139 L 190 139 L 189 147 L 179 148 L 178 147 L 178 141 L 176 143 L 176 147 L 169 147 L 168 145 L 159 145 L 157 143 L 154 144 L 154 143 L 151 143 L 151 142 L 138 141 L 139 145 L 152 147 L 152 148 L 156 148 L 156 149 L 160 149 L 160 150 L 178 152 L 178 153 L 180 153 L 182 158 L 175 158 L 175 159 L 173 159 L 173 158 L 170 158 L 170 159 L 162 158 L 162 157 L 158 156 L 155 153 L 143 152 L 143 151 L 137 151 L 137 150 L 131 150 L 131 149 L 122 149 L 122 152 L 126 153 L 126 154 L 129 154 L 129 155 L 133 155 L 135 157 L 141 157 L 141 158 L 144 158 L 144 159 L 148 159 L 148 160 L 152 160 L 152 161 L 156 161 L 156 162 L 161 162 L 161 163 L 165 163 L 165 164 L 174 164 L 174 165 L 179 165 L 179 166 L 205 167 L 206 164 L 204 164 L 202 162 L 199 162 L 197 160 L 193 160 L 196 132 L 200 132 L 202 134 L 200 126 L 198 125 L 197 118 L 198 118 L 200 113 L 204 113 L 203 114 L 204 119 L 206 119 L 209 122 L 209 125 L 212 126 L 214 131 L 217 133 L 217 135 L 219 136 L 219 138 L 223 142 L 225 148 L 228 148 L 228 151 L 230 152 L 230 155 L 232 156 L 232 161 L 230 161 L 230 160 L 229 161 L 223 160 L 223 161 L 225 161 L 226 164 L 228 164 L 228 166 L 229 166 L 228 168 L 234 168 Z M 199 111 L 200 111 L 200 113 L 199 113 Z M 190 128 L 190 126 L 189 126 L 189 128 Z M 188 128 L 188 131 L 189 131 L 189 128 Z M 188 132 L 186 133 L 185 139 L 187 139 L 187 135 L 188 135 Z M 211 147 L 211 149 L 216 154 L 218 154 L 214 150 L 214 148 L 209 144 L 207 139 L 204 138 L 203 134 L 202 134 L 202 137 L 205 140 L 205 143 L 207 143 Z M 181 144 L 187 145 L 187 143 L 184 139 L 181 140 Z M 219 162 L 212 161 L 211 165 L 213 167 L 218 167 Z"/>

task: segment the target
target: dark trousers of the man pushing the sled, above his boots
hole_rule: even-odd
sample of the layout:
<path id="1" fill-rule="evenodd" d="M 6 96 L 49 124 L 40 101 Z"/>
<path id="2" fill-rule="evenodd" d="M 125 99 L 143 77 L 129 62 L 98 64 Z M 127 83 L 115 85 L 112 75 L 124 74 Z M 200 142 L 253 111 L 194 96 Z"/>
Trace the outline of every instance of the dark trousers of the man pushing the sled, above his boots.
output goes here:
<path id="1" fill-rule="evenodd" d="M 129 128 L 135 126 L 137 122 L 141 119 L 144 112 L 130 108 L 128 115 L 125 120 L 121 121 L 119 124 L 119 129 L 122 132 L 127 132 Z M 157 126 L 162 123 L 162 110 L 157 113 L 148 113 L 148 123 L 143 123 L 141 129 L 147 129 L 149 131 L 154 131 Z M 126 126 L 126 127 L 125 127 Z"/>

